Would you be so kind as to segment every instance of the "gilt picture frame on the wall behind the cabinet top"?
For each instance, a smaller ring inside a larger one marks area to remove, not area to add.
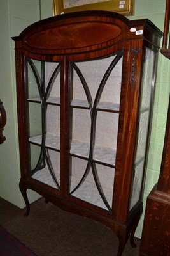
[[[134,0],[53,0],[53,15],[83,10],[105,10],[134,15]]]

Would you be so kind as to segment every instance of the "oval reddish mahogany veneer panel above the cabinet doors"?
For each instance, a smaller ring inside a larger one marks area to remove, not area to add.
[[[106,35],[103,34],[106,31]],[[94,44],[104,44],[113,38],[117,38],[121,28],[114,24],[102,24],[99,22],[81,22],[80,24],[68,24],[57,28],[48,29],[46,34],[39,32],[26,38],[25,43],[38,49],[71,49],[90,47]],[[36,38],[39,38],[39,41]],[[86,38],[89,38],[88,42]],[[76,45],[75,45],[76,42]]]

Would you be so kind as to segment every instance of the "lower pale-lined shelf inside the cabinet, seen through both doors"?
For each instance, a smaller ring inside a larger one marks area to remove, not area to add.
[[[35,145],[42,144],[42,135],[29,138],[29,142]],[[52,150],[60,151],[60,138],[53,134],[46,134],[45,147]],[[83,141],[72,140],[71,142],[71,156],[80,157],[82,159],[89,159],[90,144]],[[94,147],[93,161],[95,163],[104,164],[115,168],[116,152],[112,148]]]

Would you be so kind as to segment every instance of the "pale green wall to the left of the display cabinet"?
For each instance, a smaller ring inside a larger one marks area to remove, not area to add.
[[[18,36],[30,24],[52,16],[52,0],[1,0],[0,1],[0,99],[6,109],[4,127],[6,141],[0,145],[0,196],[24,207],[18,188],[20,159],[18,152],[17,100],[15,83],[15,51],[11,36]],[[41,12],[40,12],[41,10]],[[29,191],[30,202],[39,195]]]

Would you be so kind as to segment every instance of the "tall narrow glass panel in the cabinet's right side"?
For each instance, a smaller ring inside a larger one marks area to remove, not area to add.
[[[141,185],[145,163],[146,141],[148,137],[148,124],[150,119],[150,104],[153,86],[153,71],[155,63],[155,52],[146,48],[145,61],[143,65],[143,77],[141,83],[141,99],[139,108],[139,128],[134,161],[134,177],[132,180],[132,192],[130,210],[138,202],[141,195]]]

